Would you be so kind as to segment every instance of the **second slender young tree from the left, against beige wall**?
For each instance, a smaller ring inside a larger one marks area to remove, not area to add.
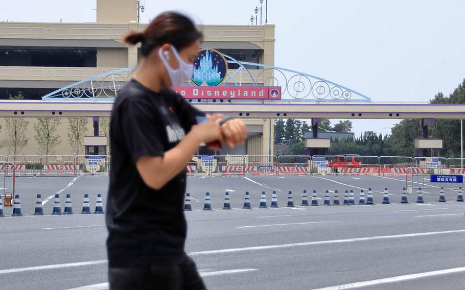
[[[36,134],[34,138],[39,144],[40,155],[51,155],[54,147],[61,143],[60,136],[56,133],[60,125],[58,118],[38,118],[38,123],[34,124]]]

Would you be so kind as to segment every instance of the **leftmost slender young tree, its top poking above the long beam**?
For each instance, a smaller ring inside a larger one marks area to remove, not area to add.
[[[24,100],[22,94],[9,95],[10,100]],[[9,152],[17,155],[27,145],[29,138],[26,136],[29,121],[26,118],[5,118],[6,140]]]

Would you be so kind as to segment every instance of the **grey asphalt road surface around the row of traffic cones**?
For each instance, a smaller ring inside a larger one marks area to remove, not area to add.
[[[465,204],[454,201],[457,192],[446,190],[446,203],[430,190],[425,204],[412,202],[415,195],[399,204],[402,178],[357,178],[189,178],[194,210],[186,213],[186,251],[208,289],[338,289],[333,286],[353,288],[362,281],[368,281],[363,289],[463,289]],[[18,178],[23,212],[33,212],[37,193],[47,198],[73,180]],[[80,177],[61,191],[62,206],[66,193],[73,195],[75,212],[84,192],[92,206],[97,193],[105,201],[107,185],[106,177]],[[373,206],[284,207],[288,190],[298,205],[303,189],[316,189],[319,198],[324,189],[337,189],[341,201],[345,189],[354,189],[358,201],[360,188],[368,187],[375,190]],[[380,204],[384,187],[392,194],[390,205]],[[220,209],[226,189],[234,210]],[[246,190],[253,210],[240,209]],[[276,190],[282,207],[258,209],[262,190],[268,205]],[[205,191],[212,194],[213,211],[201,210]],[[44,211],[52,207],[53,199]],[[0,288],[105,289],[105,238],[104,216],[98,214],[1,218]]]

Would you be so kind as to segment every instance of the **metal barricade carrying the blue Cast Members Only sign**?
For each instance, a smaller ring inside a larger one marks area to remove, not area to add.
[[[422,188],[422,190],[426,192],[428,192],[428,190],[438,191],[441,187],[452,190],[458,190],[459,186],[463,188],[463,181],[460,183],[452,182],[452,176],[456,176],[454,168],[408,167],[406,174],[407,192],[409,194],[415,193],[418,188]]]

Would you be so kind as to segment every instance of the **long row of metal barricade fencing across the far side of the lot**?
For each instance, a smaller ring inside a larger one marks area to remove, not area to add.
[[[0,155],[4,176],[106,175],[106,155]],[[11,162],[14,165],[12,165]],[[450,168],[465,174],[465,158],[360,155],[198,155],[185,167],[189,176],[386,175],[406,176],[408,168]]]

